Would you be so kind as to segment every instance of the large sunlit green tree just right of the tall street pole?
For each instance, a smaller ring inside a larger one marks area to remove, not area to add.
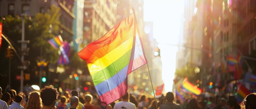
[[[32,30],[34,35],[31,35],[31,46],[35,52],[41,52],[42,57],[49,63],[56,63],[59,57],[58,50],[55,50],[48,40],[58,35],[59,32],[59,13],[60,9],[54,5],[51,6],[50,13],[37,13],[33,18]],[[40,48],[43,48],[40,51]],[[32,51],[33,52],[33,51]],[[38,55],[39,56],[39,55]]]

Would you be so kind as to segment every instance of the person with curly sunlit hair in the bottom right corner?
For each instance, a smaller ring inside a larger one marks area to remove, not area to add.
[[[241,109],[256,109],[256,93],[249,94],[240,103]]]

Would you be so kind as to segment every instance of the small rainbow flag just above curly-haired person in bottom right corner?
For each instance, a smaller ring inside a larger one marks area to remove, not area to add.
[[[249,94],[251,94],[251,92],[243,84],[241,84],[240,88],[238,89],[236,99],[238,102],[242,102],[242,100]]]

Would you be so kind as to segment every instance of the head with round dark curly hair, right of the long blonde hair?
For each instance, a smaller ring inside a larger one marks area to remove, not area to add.
[[[43,87],[40,92],[40,98],[43,102],[42,109],[52,109],[55,106],[56,100],[58,100],[58,95],[57,89],[53,86]]]

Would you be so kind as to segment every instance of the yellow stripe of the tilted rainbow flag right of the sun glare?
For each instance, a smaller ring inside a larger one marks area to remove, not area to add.
[[[192,92],[195,95],[199,95],[202,92],[202,89],[198,88],[197,86],[193,85],[188,81],[188,78],[185,78],[183,81],[182,87],[189,92]]]

